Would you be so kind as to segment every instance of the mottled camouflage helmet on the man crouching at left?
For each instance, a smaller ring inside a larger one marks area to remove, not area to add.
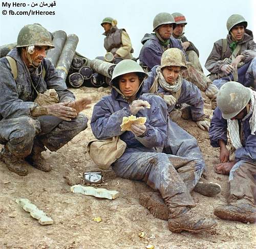
[[[54,48],[52,38],[47,29],[39,24],[24,26],[18,33],[17,47],[48,46]]]

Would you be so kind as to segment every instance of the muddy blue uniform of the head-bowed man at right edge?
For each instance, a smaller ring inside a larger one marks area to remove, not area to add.
[[[228,203],[247,200],[255,204],[256,135],[251,134],[250,118],[241,121],[239,125],[243,147],[234,152],[237,163],[229,173]],[[219,139],[227,143],[227,120],[223,119],[219,107],[214,111],[209,134],[211,146],[219,147]]]

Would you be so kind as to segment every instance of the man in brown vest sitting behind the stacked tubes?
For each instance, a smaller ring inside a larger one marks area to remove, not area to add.
[[[107,53],[111,53],[113,58],[121,57],[123,59],[131,59],[133,48],[132,42],[125,29],[117,28],[117,20],[112,17],[105,17],[101,26],[104,29],[104,48]],[[103,59],[104,57],[99,59]]]

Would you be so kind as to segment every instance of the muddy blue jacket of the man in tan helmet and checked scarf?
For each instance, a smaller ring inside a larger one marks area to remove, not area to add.
[[[157,66],[154,66],[152,71],[147,73],[148,77],[144,80],[143,93],[149,93],[150,89],[156,79]],[[191,119],[194,121],[204,120],[204,101],[200,90],[197,86],[187,80],[182,80],[181,88],[178,90],[179,93],[170,93],[164,90],[160,84],[158,84],[158,90],[156,93],[163,95],[173,95],[176,98],[176,104],[186,103],[190,105]],[[170,114],[175,106],[168,105],[168,113]]]

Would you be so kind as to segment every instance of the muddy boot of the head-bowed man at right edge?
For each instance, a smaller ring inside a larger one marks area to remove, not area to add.
[[[214,210],[214,214],[224,220],[234,220],[240,222],[256,222],[256,208],[248,202],[232,202],[230,205],[219,205]]]

